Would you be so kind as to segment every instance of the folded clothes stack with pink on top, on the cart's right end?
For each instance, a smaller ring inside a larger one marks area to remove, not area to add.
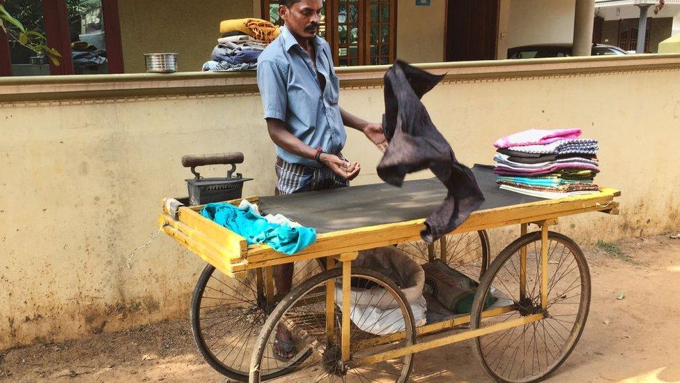
[[[580,129],[530,129],[494,142],[494,172],[500,188],[541,198],[594,193],[597,140]]]

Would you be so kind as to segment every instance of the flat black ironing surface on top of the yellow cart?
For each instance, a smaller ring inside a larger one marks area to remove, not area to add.
[[[472,167],[486,201],[480,210],[541,201],[541,198],[498,188],[493,167]],[[438,179],[350,186],[291,195],[260,197],[263,214],[281,213],[319,233],[426,218],[442,204],[447,190]]]

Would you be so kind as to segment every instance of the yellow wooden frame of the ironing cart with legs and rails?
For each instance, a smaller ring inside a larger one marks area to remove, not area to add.
[[[602,211],[610,214],[617,214],[618,202],[615,197],[619,196],[618,190],[605,188],[598,193],[588,195],[578,195],[564,197],[559,200],[541,200],[513,206],[503,206],[495,209],[475,211],[468,220],[460,227],[456,228],[451,234],[486,230],[494,227],[507,225],[520,225],[520,233],[527,233],[527,225],[537,224],[541,227],[541,307],[546,308],[547,286],[548,286],[548,227],[557,223],[557,218],[571,216],[590,211]],[[247,198],[249,202],[258,202],[258,197]],[[356,367],[369,363],[386,361],[394,357],[412,354],[434,347],[440,347],[450,343],[468,340],[477,336],[483,336],[495,331],[510,329],[514,326],[536,322],[543,319],[545,313],[536,313],[520,317],[516,320],[493,324],[477,330],[464,331],[453,335],[428,340],[423,343],[415,343],[401,350],[390,350],[378,354],[373,354],[362,359],[350,360],[351,350],[360,350],[364,347],[371,347],[383,343],[399,340],[404,333],[393,333],[388,336],[372,338],[366,342],[350,345],[350,310],[344,308],[350,306],[350,283],[349,279],[352,271],[352,261],[356,259],[358,251],[389,246],[396,243],[408,241],[418,241],[420,231],[424,225],[424,219],[409,220],[399,223],[389,223],[385,225],[375,225],[369,227],[357,227],[351,230],[339,230],[318,234],[316,243],[302,250],[295,255],[284,255],[266,245],[248,246],[247,241],[238,234],[227,230],[208,218],[200,215],[199,211],[203,206],[180,206],[172,209],[170,202],[173,200],[165,199],[163,212],[160,214],[158,223],[160,228],[176,241],[199,255],[203,260],[215,266],[228,276],[235,273],[257,269],[258,286],[263,287],[267,294],[268,301],[273,302],[272,289],[272,266],[285,264],[300,260],[310,260],[313,258],[326,257],[327,268],[334,266],[335,262],[342,264],[342,333],[341,333],[341,354],[342,360],[347,366]],[[241,200],[231,201],[233,204],[240,203]],[[442,239],[445,241],[445,239]],[[443,244],[443,243],[442,243]],[[441,246],[444,249],[446,246]],[[433,251],[429,252],[431,258],[435,257]],[[440,255],[445,257],[442,250]],[[525,262],[526,250],[520,254],[520,289],[525,284]],[[329,282],[328,291],[334,289],[334,283]],[[523,291],[520,290],[520,294]],[[334,294],[327,294],[326,298],[327,317],[330,319],[334,310]],[[493,308],[485,310],[482,317],[490,317],[507,313],[511,309],[507,307]],[[453,329],[461,324],[469,323],[470,315],[455,317],[452,320],[445,320],[435,324],[429,324],[417,328],[417,334],[423,336],[442,330]],[[327,322],[327,331],[333,331],[332,320]],[[332,336],[328,333],[327,336]]]

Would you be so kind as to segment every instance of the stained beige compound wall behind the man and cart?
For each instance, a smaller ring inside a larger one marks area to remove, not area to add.
[[[455,80],[424,104],[468,165],[490,163],[501,135],[582,128],[601,142],[597,182],[623,190],[621,216],[565,218],[556,230],[580,243],[670,232],[680,228],[675,62]],[[641,108],[640,100],[656,101]],[[383,89],[343,89],[341,105],[380,121]],[[245,195],[271,194],[274,154],[261,115],[256,93],[0,103],[0,350],[186,317],[198,257],[161,235],[130,268],[126,261],[157,232],[160,199],[185,195],[184,154],[242,151],[239,171],[255,179]],[[350,131],[344,153],[363,165],[355,184],[378,181],[380,153],[364,137]],[[512,239],[507,230],[490,236],[494,251]]]

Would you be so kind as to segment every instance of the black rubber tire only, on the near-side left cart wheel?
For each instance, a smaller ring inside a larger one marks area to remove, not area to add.
[[[341,268],[334,268],[328,271],[324,271],[323,273],[319,273],[316,276],[312,276],[311,278],[305,280],[302,284],[293,287],[291,292],[288,293],[286,297],[284,297],[284,299],[282,299],[279,302],[279,304],[267,318],[265,324],[262,326],[262,330],[260,331],[260,335],[258,336],[258,339],[256,341],[253,357],[250,363],[249,382],[263,382],[268,379],[286,375],[286,372],[284,371],[281,371],[276,374],[265,375],[264,377],[259,377],[258,375],[259,370],[257,366],[260,366],[261,364],[261,360],[263,358],[263,354],[268,343],[268,340],[272,334],[272,331],[275,331],[277,323],[279,322],[281,316],[286,313],[286,310],[288,310],[288,308],[291,308],[291,306],[293,306],[300,298],[302,298],[302,296],[304,296],[305,293],[307,293],[309,290],[319,285],[320,283],[323,283],[327,280],[336,280],[337,278],[341,278],[341,276],[342,276]],[[404,319],[408,321],[408,326],[411,329],[412,336],[410,339],[410,343],[415,344],[416,343],[415,320],[413,318],[411,307],[408,301],[406,301],[406,298],[403,292],[401,292],[401,289],[399,289],[399,287],[394,282],[392,282],[392,280],[390,280],[383,274],[369,269],[353,268],[352,276],[353,277],[368,276],[380,280],[381,282],[385,283],[385,285],[387,285],[391,290],[393,290],[397,294],[397,296],[399,296],[401,302],[405,304],[406,312],[408,315],[408,318]],[[399,380],[399,382],[408,381],[408,376],[410,375],[413,368],[414,359],[413,356],[414,354],[410,354],[407,356],[404,363],[405,370],[402,370],[403,378]]]

